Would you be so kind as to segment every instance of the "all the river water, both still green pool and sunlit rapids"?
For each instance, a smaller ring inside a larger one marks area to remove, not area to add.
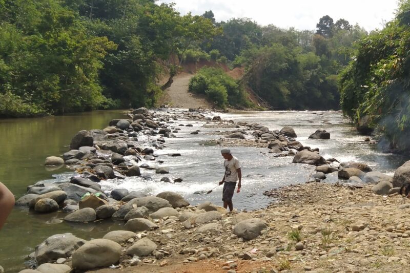
[[[73,175],[70,170],[64,167],[58,170],[46,169],[42,165],[44,159],[68,151],[67,145],[77,131],[102,129],[109,120],[121,117],[125,117],[121,111],[95,111],[60,117],[0,120],[0,181],[10,188],[16,198],[24,195],[27,185],[34,182],[67,181]],[[261,123],[271,130],[280,130],[283,126],[289,125],[295,129],[298,141],[303,145],[319,148],[325,158],[364,162],[373,170],[390,175],[406,160],[401,156],[376,151],[372,144],[363,141],[364,137],[358,135],[339,112],[238,112],[221,114],[221,117],[227,120]],[[160,182],[164,175],[143,170],[146,178],[103,181],[103,190],[109,192],[113,188],[121,187],[148,194],[173,191],[184,196],[191,204],[210,200],[221,205],[221,186],[216,187],[209,195],[197,195],[194,192],[208,191],[215,187],[224,171],[223,159],[219,152],[221,148],[204,144],[203,141],[218,139],[220,136],[212,134],[216,130],[232,129],[206,129],[202,127],[202,121],[176,122],[175,126],[179,123],[192,123],[193,127],[180,127],[181,131],[177,137],[167,138],[166,148],[155,151],[155,155],[165,161],[161,165],[170,168],[169,177],[181,177],[183,182]],[[317,129],[330,132],[331,139],[308,139]],[[200,130],[198,135],[190,134],[196,130]],[[142,141],[148,141],[148,138],[138,136]],[[240,160],[242,170],[242,190],[240,194],[235,193],[233,198],[234,207],[238,209],[249,210],[266,206],[272,199],[263,196],[264,191],[291,183],[305,182],[314,169],[310,165],[292,164],[292,156],[275,158],[273,154],[267,153],[267,148],[231,147],[231,151]],[[181,156],[169,156],[175,152]],[[337,176],[327,175],[325,181],[335,182]],[[122,226],[122,223],[112,221],[74,225],[61,221],[64,216],[62,212],[39,215],[25,208],[15,208],[0,232],[0,265],[6,272],[23,269],[25,257],[34,250],[34,246],[51,235],[71,232],[89,240],[101,238],[110,230],[121,229]]]

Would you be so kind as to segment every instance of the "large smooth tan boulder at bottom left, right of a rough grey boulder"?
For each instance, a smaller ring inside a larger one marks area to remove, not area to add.
[[[73,267],[89,270],[111,266],[119,261],[121,246],[111,240],[94,239],[78,248],[72,258]]]

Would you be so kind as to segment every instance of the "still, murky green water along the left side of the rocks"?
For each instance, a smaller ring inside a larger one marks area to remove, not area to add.
[[[52,178],[53,174],[66,172],[64,167],[47,170],[43,165],[47,156],[68,151],[73,134],[79,130],[102,129],[109,120],[125,117],[124,111],[94,111],[68,116],[0,119],[0,181],[16,196],[26,193],[27,185]],[[1,208],[0,208],[1,209]],[[55,215],[55,218],[58,218]],[[75,227],[74,227],[75,228]],[[103,233],[106,223],[73,229],[73,234],[84,238]],[[24,269],[24,257],[44,238],[67,232],[66,224],[53,224],[50,216],[30,217],[27,209],[14,208],[6,225],[0,231],[0,265],[6,272]],[[52,235],[51,234],[51,235]]]

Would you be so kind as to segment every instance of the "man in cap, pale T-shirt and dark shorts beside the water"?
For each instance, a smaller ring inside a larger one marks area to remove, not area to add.
[[[222,181],[219,185],[223,185],[222,190],[222,201],[223,207],[227,208],[232,212],[232,196],[235,192],[236,181],[239,179],[238,190],[236,193],[240,192],[242,172],[240,170],[239,160],[231,154],[231,150],[224,148],[221,150],[221,154],[225,161],[223,161],[223,166],[225,167],[225,174],[223,175]]]

